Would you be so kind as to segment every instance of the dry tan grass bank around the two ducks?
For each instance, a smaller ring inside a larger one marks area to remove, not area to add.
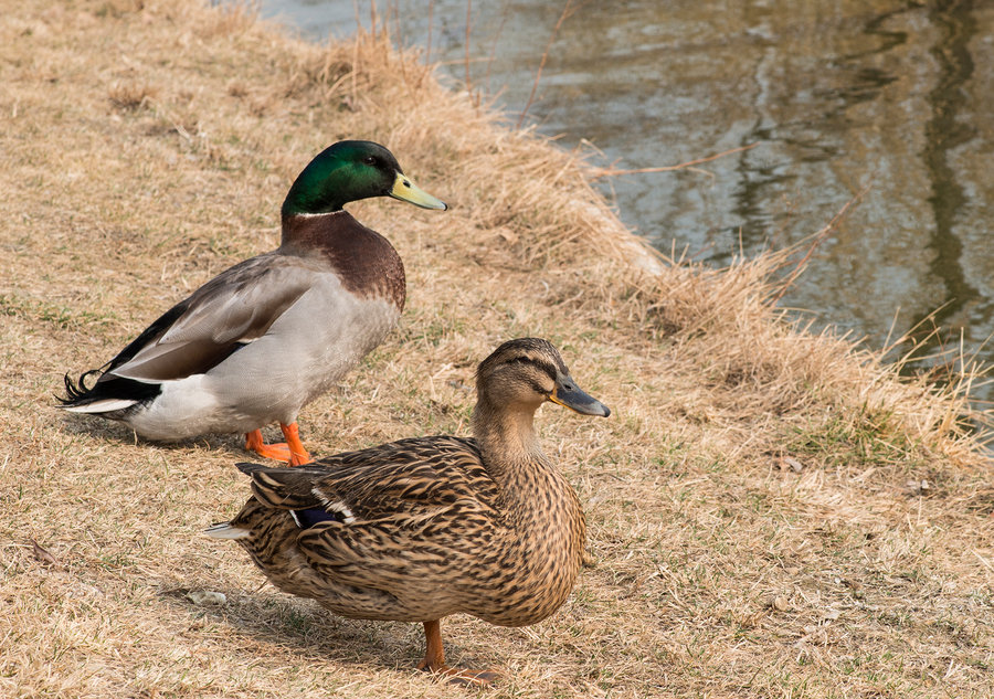
[[[332,617],[201,534],[246,497],[239,438],[136,444],[53,406],[62,372],[273,247],[303,165],[366,137],[453,210],[352,206],[401,251],[409,307],[304,412],[313,451],[465,432],[475,363],[520,335],[615,411],[540,414],[596,559],[567,605],[444,624],[454,660],[506,672],[490,696],[990,696],[994,487],[969,406],[786,324],[787,253],[639,252],[581,157],[383,36],[318,47],[194,0],[0,8],[0,695],[467,693],[412,671],[416,626]]]

